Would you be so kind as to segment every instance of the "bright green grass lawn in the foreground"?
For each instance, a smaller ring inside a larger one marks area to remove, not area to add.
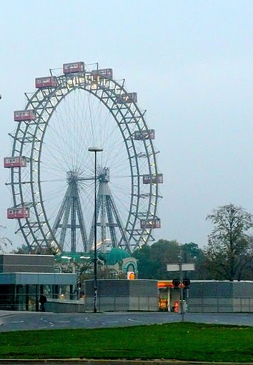
[[[184,322],[0,333],[0,359],[59,358],[253,362],[253,327]]]

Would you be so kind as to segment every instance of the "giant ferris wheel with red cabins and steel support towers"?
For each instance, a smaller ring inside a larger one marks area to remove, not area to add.
[[[132,252],[154,240],[159,151],[137,93],[124,83],[111,68],[64,63],[36,78],[24,110],[14,111],[12,153],[4,158],[13,200],[7,217],[17,220],[29,250],[91,252],[94,222],[104,252]],[[91,145],[103,148],[96,173]]]

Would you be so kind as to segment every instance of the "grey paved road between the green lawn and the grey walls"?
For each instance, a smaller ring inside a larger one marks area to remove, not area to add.
[[[36,329],[127,327],[181,322],[167,312],[41,313],[0,311],[0,332]],[[184,314],[184,322],[236,324],[253,327],[253,314]]]

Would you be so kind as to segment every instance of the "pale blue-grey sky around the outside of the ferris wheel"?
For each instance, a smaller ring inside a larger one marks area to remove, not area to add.
[[[73,61],[113,68],[156,130],[164,198],[155,239],[203,247],[213,208],[253,213],[252,10],[252,0],[1,1],[2,158],[35,77]],[[0,225],[21,245],[6,219],[7,169],[0,179]]]

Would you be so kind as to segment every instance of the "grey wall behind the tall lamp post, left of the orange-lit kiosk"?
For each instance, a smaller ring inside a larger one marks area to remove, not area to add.
[[[158,311],[157,280],[98,280],[99,311]],[[94,309],[94,281],[86,280],[86,310]]]

